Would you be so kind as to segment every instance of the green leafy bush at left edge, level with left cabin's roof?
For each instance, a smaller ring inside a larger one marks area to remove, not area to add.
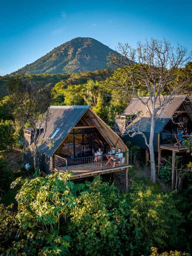
[[[13,127],[13,122],[10,120],[1,120],[0,122],[0,150],[11,149],[16,144],[17,134]]]

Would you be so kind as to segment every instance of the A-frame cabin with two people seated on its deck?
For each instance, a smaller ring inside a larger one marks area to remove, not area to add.
[[[43,131],[44,127],[41,129]],[[31,128],[24,130],[28,143],[32,139],[29,132]],[[44,138],[47,140],[38,147],[38,152],[40,168],[47,174],[72,171],[72,179],[77,179],[128,171],[131,166],[125,143],[89,106],[51,106]],[[101,161],[94,161],[99,148]],[[117,163],[113,168],[109,152],[114,155],[118,148],[123,152],[124,163]],[[25,154],[24,160],[33,164],[31,153]]]

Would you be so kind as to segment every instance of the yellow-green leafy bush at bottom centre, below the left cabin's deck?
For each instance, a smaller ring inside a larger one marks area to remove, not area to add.
[[[118,207],[118,190],[106,183],[94,182],[89,192],[82,192],[77,206],[70,212],[69,232],[74,254],[116,255],[120,237],[115,218],[110,212]]]

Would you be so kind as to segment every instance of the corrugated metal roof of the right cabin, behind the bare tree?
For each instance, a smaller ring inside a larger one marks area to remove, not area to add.
[[[161,96],[158,98],[156,102],[156,107],[158,105],[162,105],[163,102],[169,99],[170,96]],[[164,108],[164,111],[158,111],[155,121],[155,133],[160,133],[167,122],[170,120],[171,116],[178,110],[181,104],[186,99],[187,95],[176,95],[173,99],[170,99]],[[143,97],[142,100],[148,105],[149,109],[152,110],[152,105],[149,97]],[[133,115],[140,112],[140,117],[136,117],[133,122],[128,126],[135,130],[139,129],[142,132],[150,132],[151,128],[151,120],[149,116],[149,112],[146,110],[146,107],[141,103],[141,101],[137,98],[133,98],[125,109],[124,114]],[[192,113],[192,112],[191,112]]]

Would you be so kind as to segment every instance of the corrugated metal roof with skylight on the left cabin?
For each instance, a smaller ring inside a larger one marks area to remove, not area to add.
[[[51,148],[45,141],[38,147],[38,151],[48,156],[52,155],[88,108],[89,106],[51,106],[45,138],[49,138],[56,129],[60,130],[52,140],[53,146]]]

